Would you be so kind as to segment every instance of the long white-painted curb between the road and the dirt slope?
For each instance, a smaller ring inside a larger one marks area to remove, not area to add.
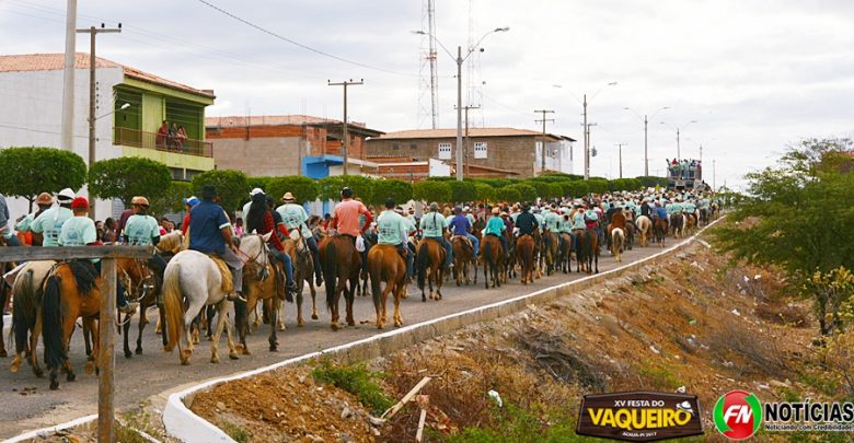
[[[233,440],[224,432],[222,432],[222,430],[215,427],[212,423],[208,422],[201,417],[196,416],[192,410],[189,410],[187,405],[193,404],[193,398],[195,397],[196,393],[209,389],[221,383],[246,378],[264,372],[274,371],[282,366],[311,360],[320,355],[333,355],[347,361],[373,359],[405,348],[407,346],[422,342],[429,338],[451,333],[468,325],[493,320],[509,314],[520,312],[527,308],[529,304],[547,303],[557,298],[568,295],[570,290],[578,291],[588,289],[593,285],[593,283],[620,276],[627,271],[636,270],[655,259],[658,259],[667,254],[672,253],[673,250],[686,246],[696,240],[697,235],[702,234],[706,229],[713,226],[724,218],[725,217],[719,217],[717,220],[697,231],[691,237],[685,238],[673,246],[665,248],[649,257],[621,266],[616,269],[612,269],[595,276],[588,276],[579,280],[544,288],[529,294],[491,303],[469,311],[463,311],[461,313],[434,318],[431,320],[418,323],[415,325],[404,326],[395,330],[378,334],[357,341],[324,349],[322,351],[311,352],[281,361],[279,363],[258,368],[256,370],[215,378],[178,393],[174,393],[169,396],[169,401],[166,403],[166,407],[163,410],[163,424],[165,424],[166,432],[170,434],[170,436],[180,439],[184,442],[233,442]]]

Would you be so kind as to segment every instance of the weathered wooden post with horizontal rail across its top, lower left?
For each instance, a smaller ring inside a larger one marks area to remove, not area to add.
[[[69,260],[74,258],[101,258],[101,312],[99,316],[100,353],[97,366],[97,441],[115,441],[115,336],[113,323],[116,315],[116,258],[151,258],[151,246],[66,246],[66,247],[2,247],[0,263]]]

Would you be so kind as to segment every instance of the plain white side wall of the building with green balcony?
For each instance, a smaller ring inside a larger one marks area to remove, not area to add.
[[[122,68],[100,68],[95,115],[113,110],[113,88],[122,83]],[[74,72],[74,142],[73,152],[89,161],[89,70]],[[62,123],[62,71],[21,71],[0,73],[0,149],[9,147],[60,147]],[[122,155],[122,147],[113,145],[113,119],[96,121],[95,160]],[[86,195],[85,188],[74,189]],[[9,199],[14,220],[27,212],[25,199]],[[111,202],[95,202],[95,218],[111,214]]]

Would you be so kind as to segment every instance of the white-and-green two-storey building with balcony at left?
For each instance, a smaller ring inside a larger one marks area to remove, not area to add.
[[[74,141],[70,147],[89,162],[89,55],[74,62]],[[62,54],[0,56],[0,149],[60,147],[62,120]],[[214,104],[210,90],[196,90],[119,63],[96,63],[95,161],[118,156],[145,156],[165,163],[174,179],[189,179],[214,168],[210,144],[205,142],[205,107]],[[129,104],[122,109],[124,104]],[[187,131],[181,148],[157,138],[163,120],[176,121]],[[85,195],[85,189],[74,189]],[[24,199],[9,198],[12,219],[26,213]],[[96,220],[120,211],[120,205],[99,200]]]

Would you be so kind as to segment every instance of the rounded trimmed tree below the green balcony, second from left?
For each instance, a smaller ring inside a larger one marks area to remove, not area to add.
[[[117,198],[125,206],[135,196],[158,200],[171,185],[172,174],[165,164],[141,156],[101,160],[89,170],[89,191],[97,198]]]

